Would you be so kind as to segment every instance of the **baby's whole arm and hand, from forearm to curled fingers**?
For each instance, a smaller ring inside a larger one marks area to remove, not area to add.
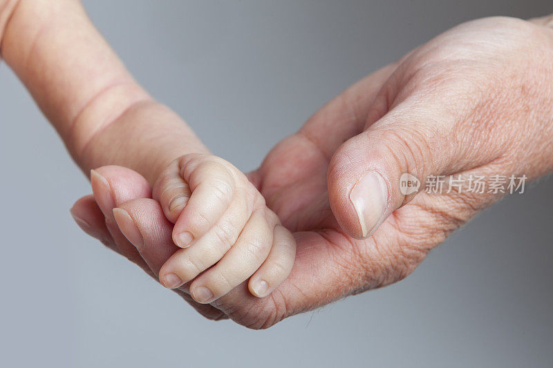
[[[2,56],[24,81],[75,162],[133,168],[154,184],[182,249],[159,271],[168,288],[213,302],[247,281],[268,296],[288,276],[296,244],[247,177],[209,154],[190,128],[132,79],[75,0],[3,1]],[[93,187],[109,186],[91,171]],[[136,240],[129,213],[107,210],[106,225]],[[140,257],[140,243],[118,245]]]

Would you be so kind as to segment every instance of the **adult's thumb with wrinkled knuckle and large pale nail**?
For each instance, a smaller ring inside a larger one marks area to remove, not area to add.
[[[454,126],[453,117],[431,106],[397,106],[344,142],[328,168],[328,197],[341,228],[366,238],[412,200],[429,175],[449,175],[474,164]]]

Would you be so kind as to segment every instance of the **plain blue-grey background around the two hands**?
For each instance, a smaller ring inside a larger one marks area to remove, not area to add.
[[[137,79],[250,170],[325,101],[447,28],[543,1],[99,1]],[[506,198],[413,275],[266,331],[209,322],[91,238],[90,191],[0,66],[0,365],[552,367],[552,180]],[[4,364],[2,364],[4,363]]]

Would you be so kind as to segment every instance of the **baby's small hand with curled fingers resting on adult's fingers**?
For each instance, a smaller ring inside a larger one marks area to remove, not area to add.
[[[175,224],[176,251],[160,269],[168,288],[189,285],[191,296],[209,303],[250,278],[254,296],[268,296],[292,270],[296,242],[265,206],[261,193],[224,159],[179,157],[153,188]]]

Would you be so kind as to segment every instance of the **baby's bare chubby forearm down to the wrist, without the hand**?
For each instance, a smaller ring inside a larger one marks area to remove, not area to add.
[[[79,1],[0,0],[0,26],[3,59],[84,171],[120,164],[153,180],[152,168],[205,150],[182,120],[138,86]]]

